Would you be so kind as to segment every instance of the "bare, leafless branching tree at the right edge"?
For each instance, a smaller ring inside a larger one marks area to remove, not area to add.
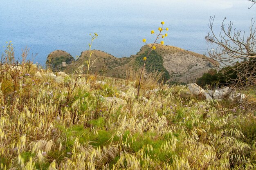
[[[255,0],[249,0],[255,3]],[[233,28],[233,22],[223,20],[220,33],[213,30],[214,17],[210,17],[210,32],[205,37],[214,50],[209,56],[220,63],[222,76],[234,86],[256,86],[256,28],[251,21],[249,34]],[[248,35],[248,36],[246,36]],[[223,69],[223,67],[226,67]],[[228,69],[227,69],[228,68]],[[232,76],[231,76],[232,75]],[[235,75],[235,76],[234,76]],[[230,78],[232,77],[232,78]]]

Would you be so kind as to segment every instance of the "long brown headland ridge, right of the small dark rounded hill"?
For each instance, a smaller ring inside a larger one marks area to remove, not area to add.
[[[92,50],[90,61],[90,73],[99,73],[105,69],[105,75],[108,77],[125,78],[126,71],[129,68],[139,68],[144,64],[143,57],[148,53],[152,44],[146,44],[141,47],[135,55],[130,57],[117,58],[100,50]],[[155,44],[156,50],[153,50],[147,59],[146,72],[160,71],[164,73],[165,79],[175,82],[195,82],[203,73],[218,65],[210,58],[181,49],[175,46]],[[79,58],[67,65],[65,71],[73,73],[74,68],[83,63],[87,67],[86,61],[89,60],[89,50],[82,51]]]

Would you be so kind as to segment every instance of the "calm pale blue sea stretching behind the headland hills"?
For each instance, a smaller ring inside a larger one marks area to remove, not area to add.
[[[73,57],[89,49],[90,33],[97,32],[92,49],[116,57],[136,54],[144,43],[153,42],[160,22],[168,27],[166,45],[197,53],[207,53],[204,39],[226,17],[234,27],[249,30],[256,15],[256,5],[247,0],[11,0],[0,3],[0,52],[12,41],[16,58],[25,46],[28,59],[44,64],[47,55],[57,49]],[[255,25],[254,25],[255,26]],[[36,57],[31,56],[36,54]]]

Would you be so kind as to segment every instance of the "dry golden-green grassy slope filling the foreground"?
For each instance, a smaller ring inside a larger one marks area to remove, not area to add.
[[[105,78],[99,85],[101,77],[94,77],[85,84],[83,76],[75,83],[70,75],[57,83],[25,73],[31,75],[18,79],[23,85],[12,104],[12,95],[0,93],[0,169],[256,168],[251,106],[207,102],[186,86],[167,85],[150,93],[141,88],[136,100],[129,80]],[[74,84],[70,94],[67,85]]]

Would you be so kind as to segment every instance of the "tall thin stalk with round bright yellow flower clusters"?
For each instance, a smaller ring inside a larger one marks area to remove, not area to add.
[[[168,28],[163,29],[164,21],[162,21],[161,24],[162,24],[162,26],[158,28],[158,31],[159,31],[158,34],[155,33],[154,30],[151,31],[151,34],[155,34],[157,37],[156,37],[156,39],[155,39],[155,42],[154,42],[151,46],[148,46],[148,47],[150,47],[150,49],[149,49],[149,51],[148,51],[148,54],[147,54],[145,57],[143,57],[144,64],[143,64],[143,67],[141,68],[141,73],[140,73],[140,77],[139,77],[139,85],[138,85],[137,98],[139,97],[139,89],[140,89],[140,84],[141,84],[141,77],[142,77],[142,73],[143,73],[143,71],[144,71],[144,68],[145,68],[145,66],[146,66],[147,58],[148,58],[149,54],[151,53],[151,51],[153,51],[153,50],[156,49],[156,47],[155,47],[154,45],[157,43],[157,40],[158,40],[159,38],[165,38],[165,37],[167,37],[167,35],[168,35],[167,33],[162,34],[162,31],[163,31],[163,30],[168,31]],[[142,42],[146,43],[146,39],[143,39]],[[147,43],[146,43],[146,44],[147,44]],[[160,41],[160,44],[163,45],[163,44],[164,44],[164,41]],[[148,44],[147,44],[147,45],[148,45]]]

